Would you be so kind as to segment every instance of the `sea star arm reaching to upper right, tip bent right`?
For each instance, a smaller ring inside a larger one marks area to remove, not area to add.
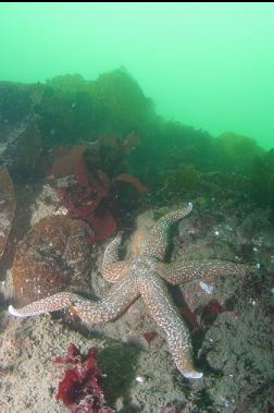
[[[169,244],[169,229],[179,219],[186,217],[192,210],[192,204],[188,203],[184,208],[164,215],[152,228],[146,253],[155,258],[163,259]]]

